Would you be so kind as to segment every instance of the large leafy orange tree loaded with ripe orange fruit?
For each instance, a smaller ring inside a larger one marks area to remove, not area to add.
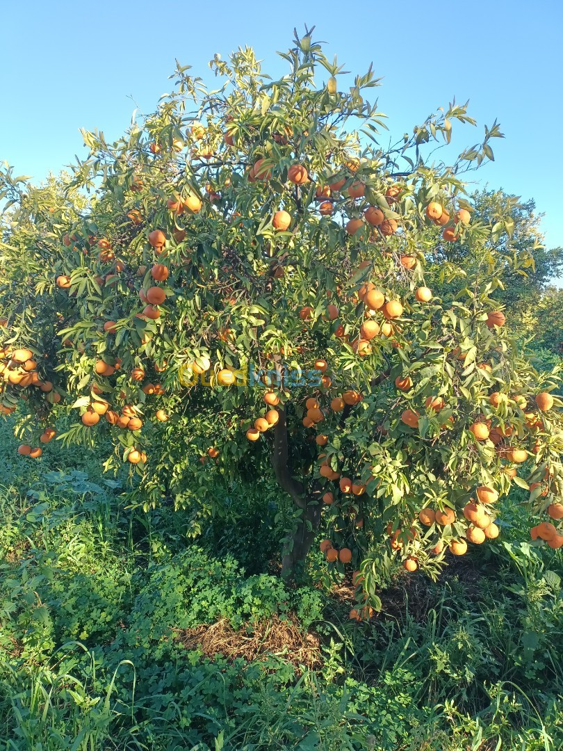
[[[311,32],[281,58],[272,80],[250,49],[215,56],[210,92],[178,66],[124,137],[84,133],[59,190],[2,171],[2,410],[23,400],[20,454],[71,415],[57,439],[109,437],[131,502],[173,499],[197,528],[225,513],[218,489],[272,476],[291,501],[284,574],[322,525],[328,575],[355,569],[365,608],[393,557],[434,575],[495,538],[513,483],[537,544],[560,547],[558,370],[519,354],[493,297],[519,267],[510,216],[464,198],[498,125],[450,166],[432,149],[474,125],[455,103],[386,148],[371,68],[342,90]],[[453,302],[424,284],[436,263],[466,277]]]

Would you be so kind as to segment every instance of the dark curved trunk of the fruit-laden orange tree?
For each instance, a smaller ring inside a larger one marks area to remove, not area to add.
[[[288,425],[285,410],[278,409],[279,420],[274,427],[272,466],[279,486],[291,496],[294,508],[302,512],[300,522],[292,535],[292,547],[281,559],[281,576],[291,578],[303,565],[321,522],[321,488],[313,487],[307,493],[305,485],[294,478],[288,452]]]

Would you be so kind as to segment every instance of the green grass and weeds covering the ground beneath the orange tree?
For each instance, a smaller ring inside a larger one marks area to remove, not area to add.
[[[276,509],[248,489],[230,535],[190,541],[181,512],[123,508],[95,455],[14,446],[2,424],[0,748],[563,747],[561,551],[513,500],[495,544],[436,584],[397,571],[357,626],[320,556],[299,589],[269,571]]]

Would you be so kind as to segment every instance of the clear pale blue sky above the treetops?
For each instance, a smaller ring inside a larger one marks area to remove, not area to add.
[[[373,62],[393,133],[410,132],[454,95],[471,100],[479,123],[458,131],[460,148],[498,118],[506,138],[493,142],[495,164],[477,176],[534,198],[547,244],[563,245],[561,0],[5,0],[0,17],[0,160],[18,173],[39,180],[86,155],[81,127],[116,137],[135,106],[152,112],[175,58],[209,80],[213,53],[226,58],[250,44],[277,73],[275,50],[308,23],[347,70]]]

